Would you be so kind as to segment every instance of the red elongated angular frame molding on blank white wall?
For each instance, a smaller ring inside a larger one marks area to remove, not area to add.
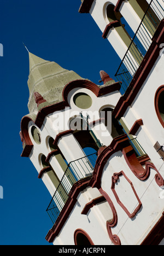
[[[118,182],[118,179],[120,176],[124,176],[125,179],[127,180],[128,183],[130,183],[131,188],[133,190],[134,195],[137,198],[138,201],[138,206],[134,209],[134,211],[132,213],[130,213],[127,208],[125,207],[125,205],[120,201],[118,194],[115,191],[115,184]],[[114,173],[113,177],[112,177],[112,187],[111,187],[113,194],[116,198],[116,201],[118,202],[118,204],[122,207],[122,209],[126,212],[126,214],[128,215],[129,218],[133,218],[134,216],[136,216],[136,213],[139,211],[140,207],[142,206],[142,202],[139,200],[139,197],[137,195],[136,190],[134,189],[133,183],[130,181],[130,179],[127,178],[127,176],[125,175],[125,173],[123,171],[119,172],[119,173]]]

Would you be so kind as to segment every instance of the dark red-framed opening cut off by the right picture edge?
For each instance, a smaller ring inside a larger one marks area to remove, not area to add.
[[[160,86],[155,95],[155,110],[161,125],[164,127],[164,85]]]

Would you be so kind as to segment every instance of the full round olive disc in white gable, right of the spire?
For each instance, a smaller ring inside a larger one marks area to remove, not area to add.
[[[79,92],[73,97],[74,104],[81,109],[87,109],[92,106],[92,99],[89,95],[84,92]]]

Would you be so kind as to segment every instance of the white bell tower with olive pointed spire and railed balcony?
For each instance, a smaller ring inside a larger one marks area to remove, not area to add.
[[[55,222],[72,186],[91,177],[99,148],[120,134],[111,123],[120,83],[101,71],[98,86],[55,62],[31,53],[29,60],[30,113],[21,120],[21,156],[30,158],[48,188],[47,211]]]

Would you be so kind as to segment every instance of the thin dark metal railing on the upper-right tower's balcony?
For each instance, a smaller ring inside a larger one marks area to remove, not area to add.
[[[151,0],[149,8],[145,12],[138,30],[115,74],[116,79],[122,82],[122,94],[124,94],[128,85],[130,85],[134,74],[147,53],[152,42],[151,38],[156,28],[159,26],[160,21],[163,19],[163,16],[164,10],[159,1]]]

